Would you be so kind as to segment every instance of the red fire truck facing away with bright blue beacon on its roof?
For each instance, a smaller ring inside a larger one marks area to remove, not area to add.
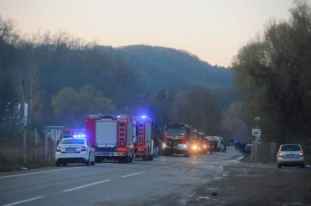
[[[142,157],[143,161],[153,160],[153,131],[157,128],[157,124],[147,116],[133,116],[133,123],[138,129],[138,135],[133,138],[134,156]]]

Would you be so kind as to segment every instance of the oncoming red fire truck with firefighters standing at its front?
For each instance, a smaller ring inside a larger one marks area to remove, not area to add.
[[[163,153],[166,152],[166,141],[168,139],[173,140],[175,137],[178,138],[177,154],[184,154],[185,157],[191,155],[191,126],[182,123],[169,123],[164,126],[163,129]]]

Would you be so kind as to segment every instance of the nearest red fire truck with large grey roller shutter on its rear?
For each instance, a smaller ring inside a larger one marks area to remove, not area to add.
[[[119,163],[132,162],[134,128],[133,118],[128,114],[86,115],[85,132],[95,150],[96,162],[104,159],[118,160]]]

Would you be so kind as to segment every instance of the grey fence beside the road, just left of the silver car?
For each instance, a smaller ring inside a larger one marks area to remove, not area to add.
[[[252,142],[251,160],[274,160],[275,142]]]

